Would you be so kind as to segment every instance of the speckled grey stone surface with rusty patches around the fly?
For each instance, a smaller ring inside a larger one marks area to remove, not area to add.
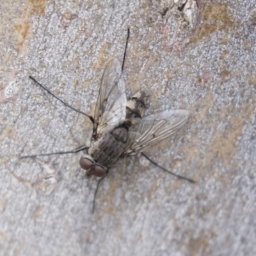
[[[191,1],[191,0],[189,0]],[[0,1],[1,255],[256,255],[256,2],[198,1],[186,26],[172,1]],[[180,12],[180,13],[179,13]],[[187,24],[188,25],[188,24]],[[188,123],[102,182],[83,155],[20,159],[90,143],[108,61],[147,114]]]

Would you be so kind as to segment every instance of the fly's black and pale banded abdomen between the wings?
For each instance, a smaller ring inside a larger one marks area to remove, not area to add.
[[[145,92],[136,92],[131,99],[127,100],[126,116],[124,124],[127,127],[136,125],[140,122],[145,113]]]

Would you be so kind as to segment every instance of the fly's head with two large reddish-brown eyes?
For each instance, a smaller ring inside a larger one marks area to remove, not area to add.
[[[83,168],[83,173],[86,178],[92,177],[92,175],[96,177],[104,177],[108,174],[108,170],[93,160],[90,156],[81,157],[80,166]]]

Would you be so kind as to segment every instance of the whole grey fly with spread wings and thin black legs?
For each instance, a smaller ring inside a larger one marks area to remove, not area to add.
[[[125,54],[128,38],[129,29]],[[166,110],[154,115],[144,116],[146,108],[145,98],[147,97],[145,92],[138,91],[127,100],[123,76],[124,60],[121,65],[117,58],[113,58],[106,66],[100,83],[94,117],[73,108],[56,97],[42,84],[38,83],[35,78],[29,76],[30,79],[53,97],[60,100],[65,106],[87,116],[93,124],[93,135],[89,147],[84,145],[76,150],[23,156],[22,158],[69,154],[86,150],[87,154],[81,157],[79,161],[81,168],[83,168],[84,176],[87,178],[92,176],[100,177],[95,189],[93,211],[95,209],[95,197],[99,184],[108,175],[109,170],[120,164],[125,157],[134,156],[139,153],[150,163],[162,170],[180,179],[195,182],[166,170],[143,153],[143,151],[154,146],[156,143],[165,140],[179,131],[188,120],[189,113],[186,110]]]

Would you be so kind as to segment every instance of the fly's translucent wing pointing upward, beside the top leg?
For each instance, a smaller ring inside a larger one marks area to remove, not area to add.
[[[94,115],[94,134],[113,131],[124,123],[126,109],[125,83],[122,67],[117,58],[108,63],[100,84]]]

